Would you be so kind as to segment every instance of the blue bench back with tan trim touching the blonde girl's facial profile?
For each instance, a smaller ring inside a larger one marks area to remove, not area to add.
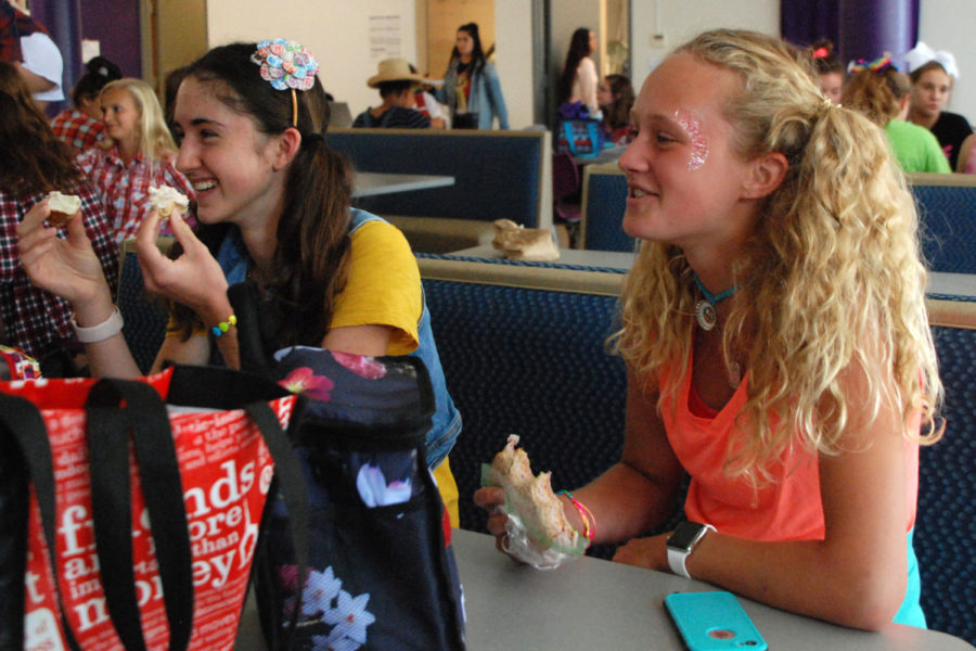
[[[580,248],[635,251],[637,241],[624,232],[627,177],[614,163],[587,165],[583,170]]]

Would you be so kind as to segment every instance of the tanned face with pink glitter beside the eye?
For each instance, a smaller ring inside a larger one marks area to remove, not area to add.
[[[749,163],[732,148],[722,113],[741,87],[730,71],[675,54],[644,81],[633,141],[620,157],[628,197],[624,230],[688,251],[742,239],[757,208],[742,201]]]

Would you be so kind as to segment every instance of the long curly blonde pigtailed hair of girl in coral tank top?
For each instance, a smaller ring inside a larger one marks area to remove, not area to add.
[[[833,106],[780,40],[720,29],[676,53],[742,79],[724,117],[744,159],[779,152],[788,162],[733,268],[737,290],[722,345],[727,359],[741,352],[748,397],[739,438],[729,442],[727,473],[758,485],[771,478],[767,465],[796,445],[843,451],[850,398],[840,374],[851,365],[865,369],[873,413],[896,405],[904,435],[935,442],[942,390],[924,304],[917,215],[884,131]],[[656,387],[666,367],[677,369],[662,387],[671,404],[690,372],[696,301],[681,250],[643,242],[625,281],[621,329],[611,343],[645,386]],[[924,435],[910,426],[920,412]]]

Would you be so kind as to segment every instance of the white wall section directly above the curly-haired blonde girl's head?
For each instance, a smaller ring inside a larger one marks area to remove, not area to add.
[[[666,54],[706,29],[734,27],[780,34],[779,0],[632,0],[630,12],[635,90]],[[664,36],[664,47],[653,40],[658,34]]]

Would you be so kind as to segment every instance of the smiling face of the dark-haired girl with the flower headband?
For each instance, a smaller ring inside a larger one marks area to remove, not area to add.
[[[231,111],[218,99],[216,84],[188,77],[177,93],[175,120],[181,137],[177,168],[196,191],[197,217],[204,224],[239,226],[274,219],[285,176],[274,169],[279,138],[260,132],[252,117]]]

